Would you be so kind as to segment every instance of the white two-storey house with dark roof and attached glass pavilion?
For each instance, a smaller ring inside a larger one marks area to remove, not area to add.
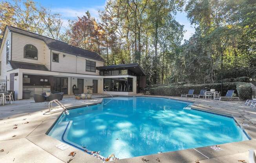
[[[23,91],[73,94],[73,88],[130,95],[145,87],[145,79],[138,63],[104,66],[97,53],[16,27],[6,26],[0,41],[0,89],[15,91],[16,99]]]

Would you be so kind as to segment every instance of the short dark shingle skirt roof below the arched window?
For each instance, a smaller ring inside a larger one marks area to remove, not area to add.
[[[30,69],[30,70],[48,71],[45,65],[27,63],[27,62],[14,62],[14,61],[9,61],[9,62],[13,69]]]

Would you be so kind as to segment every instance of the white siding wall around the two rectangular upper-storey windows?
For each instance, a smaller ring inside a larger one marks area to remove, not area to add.
[[[52,50],[52,53],[59,54],[59,62],[53,62],[53,59],[51,60],[51,71],[99,75],[98,70],[96,70],[96,72],[86,71],[86,60],[91,60],[91,59],[75,56],[72,54],[62,53],[59,51],[53,51],[53,50]],[[65,57],[63,57],[63,54],[65,55]],[[104,62],[101,62],[101,61],[97,61],[97,60],[91,60],[91,61],[96,62],[96,67],[104,65]]]

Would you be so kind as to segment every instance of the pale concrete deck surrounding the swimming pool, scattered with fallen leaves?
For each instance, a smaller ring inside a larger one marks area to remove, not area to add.
[[[75,100],[73,97],[64,97],[61,101],[67,107],[73,105],[91,105],[101,103],[100,95],[90,100]],[[112,163],[242,163],[248,160],[248,150],[256,149],[256,110],[244,105],[245,101],[213,101],[167,96],[176,100],[194,102],[192,108],[232,115],[251,136],[251,140],[221,144],[222,150],[216,151],[210,147],[164,152],[148,156],[139,156],[128,159],[110,161]],[[53,114],[44,113],[48,110],[48,102],[34,103],[33,100],[15,101],[13,105],[0,106],[0,163],[102,163],[103,161],[69,147],[60,150],[55,145],[62,142],[46,135],[46,132],[55,123],[62,112]],[[28,123],[27,123],[28,122]],[[16,128],[17,127],[17,128]],[[15,129],[16,128],[16,129]],[[200,134],[200,133],[198,133]],[[3,152],[2,149],[4,150]],[[75,156],[68,156],[75,151]],[[255,150],[256,151],[256,150]],[[143,159],[142,159],[143,158]],[[240,160],[240,161],[239,161]]]

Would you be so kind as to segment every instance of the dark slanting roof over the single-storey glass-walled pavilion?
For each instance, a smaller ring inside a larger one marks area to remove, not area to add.
[[[146,76],[143,68],[139,65],[139,63],[129,63],[123,65],[109,65],[109,66],[100,66],[96,67],[97,70],[123,70],[128,69],[134,72],[137,75]]]

